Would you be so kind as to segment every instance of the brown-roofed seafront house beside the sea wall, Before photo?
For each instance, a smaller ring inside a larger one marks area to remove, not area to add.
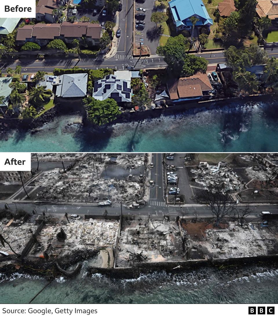
[[[212,90],[206,74],[200,72],[190,77],[173,79],[167,82],[170,99],[202,97]]]

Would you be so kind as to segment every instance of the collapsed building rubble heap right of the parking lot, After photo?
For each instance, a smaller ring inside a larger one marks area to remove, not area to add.
[[[244,185],[241,178],[225,162],[218,162],[216,166],[211,166],[207,162],[199,162],[198,169],[190,171],[194,174],[195,182],[204,187],[224,184],[226,191],[237,192]]]

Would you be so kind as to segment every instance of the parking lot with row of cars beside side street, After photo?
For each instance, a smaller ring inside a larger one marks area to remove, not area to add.
[[[186,171],[186,168],[184,165],[185,155],[186,155],[185,153],[174,153],[173,155],[171,155],[174,157],[174,160],[166,159],[166,157],[168,155],[165,155],[165,167],[167,167],[167,165],[174,165],[175,166],[176,171],[173,171],[173,172],[177,173],[176,176],[179,178],[178,188],[180,189],[180,192],[178,194],[183,195],[183,199],[184,199],[186,204],[192,204],[193,203],[193,201],[192,201],[193,191],[190,187],[187,171]],[[166,173],[168,173],[168,172],[171,172],[171,170],[166,170]],[[177,185],[168,184],[167,195],[169,195],[169,190],[172,187],[177,187]],[[168,196],[168,200],[171,200],[172,198],[174,198],[174,195]]]

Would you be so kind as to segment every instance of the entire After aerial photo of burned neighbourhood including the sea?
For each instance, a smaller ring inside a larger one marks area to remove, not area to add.
[[[275,303],[277,189],[277,153],[32,153],[0,172],[0,303]]]

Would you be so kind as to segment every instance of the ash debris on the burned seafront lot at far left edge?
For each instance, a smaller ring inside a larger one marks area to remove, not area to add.
[[[32,234],[35,233],[37,226],[34,223],[11,223],[9,227],[6,227],[8,222],[9,220],[6,218],[0,221],[0,233],[15,252],[21,253]],[[0,244],[0,249],[2,251],[12,253],[11,249],[6,243],[5,247]]]

